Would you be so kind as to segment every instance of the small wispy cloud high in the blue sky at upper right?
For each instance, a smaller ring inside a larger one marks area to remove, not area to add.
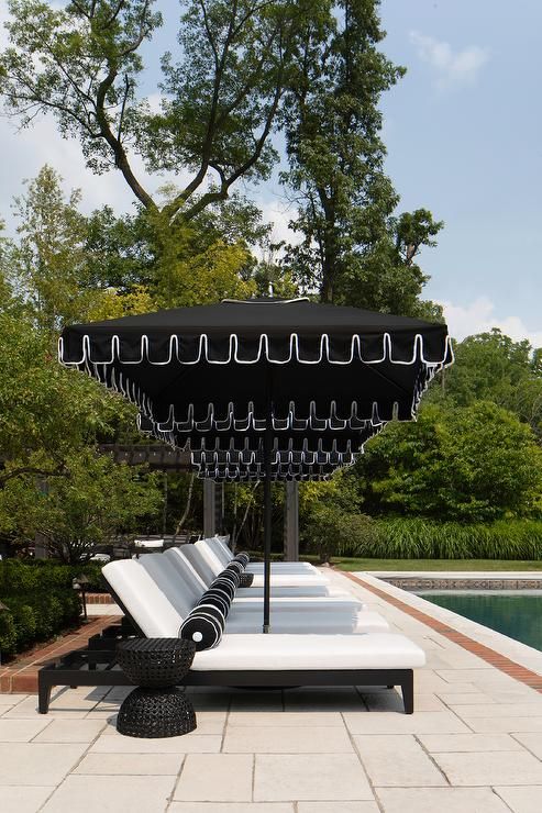
[[[489,59],[488,49],[479,45],[453,51],[450,43],[418,31],[410,32],[410,41],[416,45],[420,59],[433,68],[440,88],[472,85]]]

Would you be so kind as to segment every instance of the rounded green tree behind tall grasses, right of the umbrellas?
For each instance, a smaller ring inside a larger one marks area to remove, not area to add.
[[[489,401],[429,404],[413,424],[388,424],[354,470],[372,515],[484,522],[542,509],[542,450],[529,426]]]

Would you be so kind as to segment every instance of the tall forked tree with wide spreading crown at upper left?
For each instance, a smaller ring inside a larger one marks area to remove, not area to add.
[[[165,224],[189,222],[228,198],[237,179],[269,171],[269,135],[299,32],[320,7],[329,13],[325,0],[186,0],[180,57],[163,57],[162,109],[153,112],[137,94],[141,46],[162,24],[153,0],[73,0],[62,9],[9,0],[0,92],[23,125],[53,113],[92,170],[119,169]],[[161,208],[136,177],[133,155],[152,170],[192,175]]]

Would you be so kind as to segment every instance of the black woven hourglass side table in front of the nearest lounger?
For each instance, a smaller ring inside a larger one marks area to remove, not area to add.
[[[123,672],[139,684],[123,701],[117,731],[129,737],[177,737],[196,728],[190,700],[176,688],[196,645],[180,638],[130,638],[117,646]]]

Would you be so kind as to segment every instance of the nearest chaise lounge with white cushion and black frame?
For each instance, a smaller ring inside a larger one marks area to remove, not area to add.
[[[139,563],[111,563],[114,592],[146,637],[177,637],[179,613]],[[135,567],[132,567],[135,566]],[[111,567],[111,566],[108,566]],[[120,575],[120,576],[119,576]],[[413,712],[413,669],[424,653],[403,635],[224,634],[218,646],[197,651],[185,686],[400,686],[405,712]],[[131,686],[112,651],[80,650],[40,671],[38,709],[46,713],[53,686]]]

